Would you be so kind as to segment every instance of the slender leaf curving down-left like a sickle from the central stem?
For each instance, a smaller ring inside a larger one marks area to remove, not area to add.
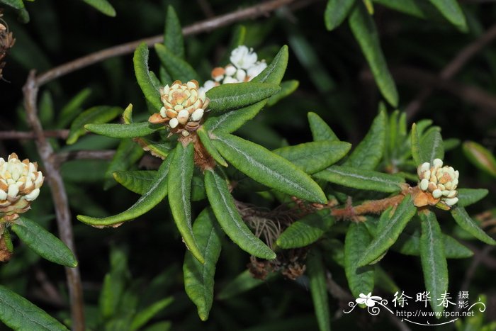
[[[154,178],[153,185],[150,186],[149,191],[143,194],[133,206],[128,208],[128,210],[106,218],[93,218],[85,215],[77,215],[77,219],[89,225],[112,226],[123,223],[126,220],[133,220],[147,211],[150,211],[150,209],[157,206],[157,204],[167,196],[167,174],[169,174],[169,166],[172,157],[174,157],[174,152],[171,152],[169,157],[167,157],[159,167],[157,176]]]

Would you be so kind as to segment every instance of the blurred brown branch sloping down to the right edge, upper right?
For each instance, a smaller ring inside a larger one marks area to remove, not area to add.
[[[400,82],[415,84],[417,86],[436,86],[436,89],[448,91],[449,93],[463,99],[463,101],[474,103],[481,110],[485,111],[487,115],[496,115],[496,97],[488,94],[483,89],[479,89],[475,86],[459,84],[447,78],[440,78],[437,77],[435,74],[431,74],[429,72],[425,72],[424,70],[416,68],[394,68],[391,70],[391,72],[393,73],[395,79]]]

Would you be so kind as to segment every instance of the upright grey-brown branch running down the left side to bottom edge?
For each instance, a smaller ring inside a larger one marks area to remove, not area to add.
[[[33,128],[36,135],[36,146],[38,153],[45,166],[45,175],[52,191],[52,198],[55,202],[55,214],[57,215],[57,228],[59,229],[60,239],[76,255],[74,247],[74,236],[72,232],[71,213],[69,203],[67,202],[67,193],[65,192],[64,182],[59,169],[55,167],[52,156],[54,151],[50,143],[46,140],[43,127],[38,118],[38,109],[36,106],[39,86],[36,84],[35,72],[29,74],[28,80],[23,87],[24,107],[29,125]],[[69,297],[71,301],[72,330],[84,330],[84,301],[81,287],[81,276],[79,267],[65,268],[67,284],[69,287]]]

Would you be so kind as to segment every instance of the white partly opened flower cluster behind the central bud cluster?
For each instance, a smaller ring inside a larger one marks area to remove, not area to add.
[[[236,47],[231,52],[230,64],[216,67],[212,70],[212,79],[205,82],[201,91],[208,91],[220,84],[249,82],[257,77],[266,67],[265,60],[257,61],[257,53],[253,48],[244,45]]]

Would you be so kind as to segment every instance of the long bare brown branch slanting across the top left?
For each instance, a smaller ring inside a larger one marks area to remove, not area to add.
[[[240,9],[239,11],[234,11],[232,13],[227,13],[225,15],[216,16],[214,18],[209,18],[205,21],[194,23],[191,26],[186,26],[183,28],[183,35],[195,35],[197,33],[202,33],[205,31],[210,31],[215,28],[220,28],[222,26],[228,26],[231,23],[237,21],[242,21],[247,18],[257,18],[260,16],[268,15],[271,11],[291,4],[295,0],[272,0],[267,1],[262,4],[257,4],[255,6],[248,7],[246,9]],[[163,35],[155,35],[150,38],[135,40],[130,43],[125,43],[122,45],[117,45],[113,47],[106,48],[105,50],[100,50],[98,52],[91,53],[84,57],[79,57],[79,59],[67,62],[58,67],[48,70],[43,74],[40,74],[36,78],[36,84],[42,86],[47,82],[51,82],[53,79],[69,74],[69,72],[74,72],[78,69],[88,67],[91,64],[96,64],[103,60],[111,57],[125,55],[133,52],[138,45],[141,43],[146,43],[148,46],[152,46],[155,43],[162,42]]]

